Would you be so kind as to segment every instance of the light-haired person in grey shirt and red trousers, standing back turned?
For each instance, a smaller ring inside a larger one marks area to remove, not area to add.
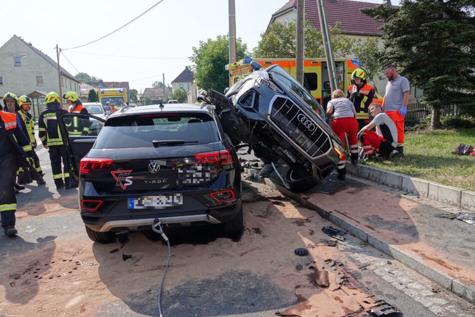
[[[358,121],[356,120],[355,105],[345,98],[345,92],[336,89],[332,93],[332,99],[327,103],[327,117],[332,117],[332,130],[338,135],[342,143],[346,146],[345,134],[348,137],[350,147],[350,159],[352,164],[358,164]],[[346,179],[346,155],[344,154],[337,164],[337,178]]]

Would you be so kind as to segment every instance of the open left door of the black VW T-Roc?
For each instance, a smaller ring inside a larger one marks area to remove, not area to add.
[[[79,162],[89,152],[104,126],[105,119],[94,115],[75,112],[64,113],[58,117],[58,127],[66,147],[66,160],[69,174],[79,180]],[[87,132],[74,131],[74,126],[88,126]]]

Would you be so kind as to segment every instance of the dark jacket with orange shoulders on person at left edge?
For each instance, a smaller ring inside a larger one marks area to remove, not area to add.
[[[16,114],[0,110],[0,157],[14,152],[22,158],[19,165],[29,165],[26,157],[32,156],[31,145],[16,125]]]

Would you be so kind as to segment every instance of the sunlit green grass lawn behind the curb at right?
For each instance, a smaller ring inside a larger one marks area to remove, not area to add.
[[[459,143],[475,147],[475,128],[406,132],[404,157],[362,163],[475,191],[475,156],[452,154]]]

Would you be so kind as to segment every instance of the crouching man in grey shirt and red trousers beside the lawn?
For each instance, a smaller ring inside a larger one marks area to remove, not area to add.
[[[388,114],[383,112],[379,103],[370,105],[370,113],[374,116],[373,120],[358,132],[363,151],[367,155],[367,160],[376,160],[376,153],[390,158],[398,145],[396,124]],[[376,132],[371,131],[373,127],[376,127]]]

